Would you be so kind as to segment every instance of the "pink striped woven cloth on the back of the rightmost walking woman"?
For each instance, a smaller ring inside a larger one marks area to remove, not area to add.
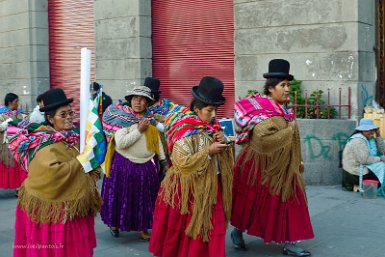
[[[266,96],[257,94],[240,99],[235,103],[234,111],[235,142],[246,143],[255,125],[274,116],[282,116],[287,121],[294,120],[292,109],[288,110]]]

